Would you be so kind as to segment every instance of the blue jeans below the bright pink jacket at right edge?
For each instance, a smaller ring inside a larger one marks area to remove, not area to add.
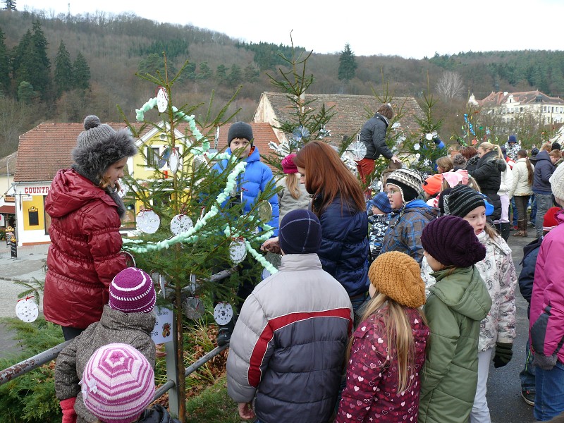
[[[537,394],[534,398],[534,418],[545,422],[564,411],[564,364],[557,362],[550,370],[535,367]]]

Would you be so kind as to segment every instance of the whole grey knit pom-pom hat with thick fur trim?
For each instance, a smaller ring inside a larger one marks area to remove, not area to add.
[[[127,129],[116,132],[93,115],[85,118],[84,128],[72,152],[73,168],[95,185],[99,185],[108,166],[137,154],[135,140]]]

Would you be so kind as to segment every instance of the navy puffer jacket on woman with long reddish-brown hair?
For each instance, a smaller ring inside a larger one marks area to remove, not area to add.
[[[324,271],[341,282],[350,297],[368,291],[368,216],[341,201],[326,207],[319,216],[321,248],[317,255]]]

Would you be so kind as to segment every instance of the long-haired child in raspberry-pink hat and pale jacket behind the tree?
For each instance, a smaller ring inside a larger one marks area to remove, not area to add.
[[[277,187],[282,189],[278,191],[278,205],[280,207],[279,221],[290,210],[307,209],[309,207],[309,200],[312,196],[305,189],[305,185],[300,183],[300,173],[294,164],[295,154],[288,154],[282,160],[282,171],[286,176],[278,180]]]

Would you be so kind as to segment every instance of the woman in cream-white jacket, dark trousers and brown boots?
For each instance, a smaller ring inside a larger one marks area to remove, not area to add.
[[[527,206],[533,193],[533,175],[534,166],[527,157],[527,150],[520,149],[513,165],[513,183],[509,192],[509,196],[515,199],[517,216],[520,217],[517,221],[517,232],[513,236],[527,236]]]

